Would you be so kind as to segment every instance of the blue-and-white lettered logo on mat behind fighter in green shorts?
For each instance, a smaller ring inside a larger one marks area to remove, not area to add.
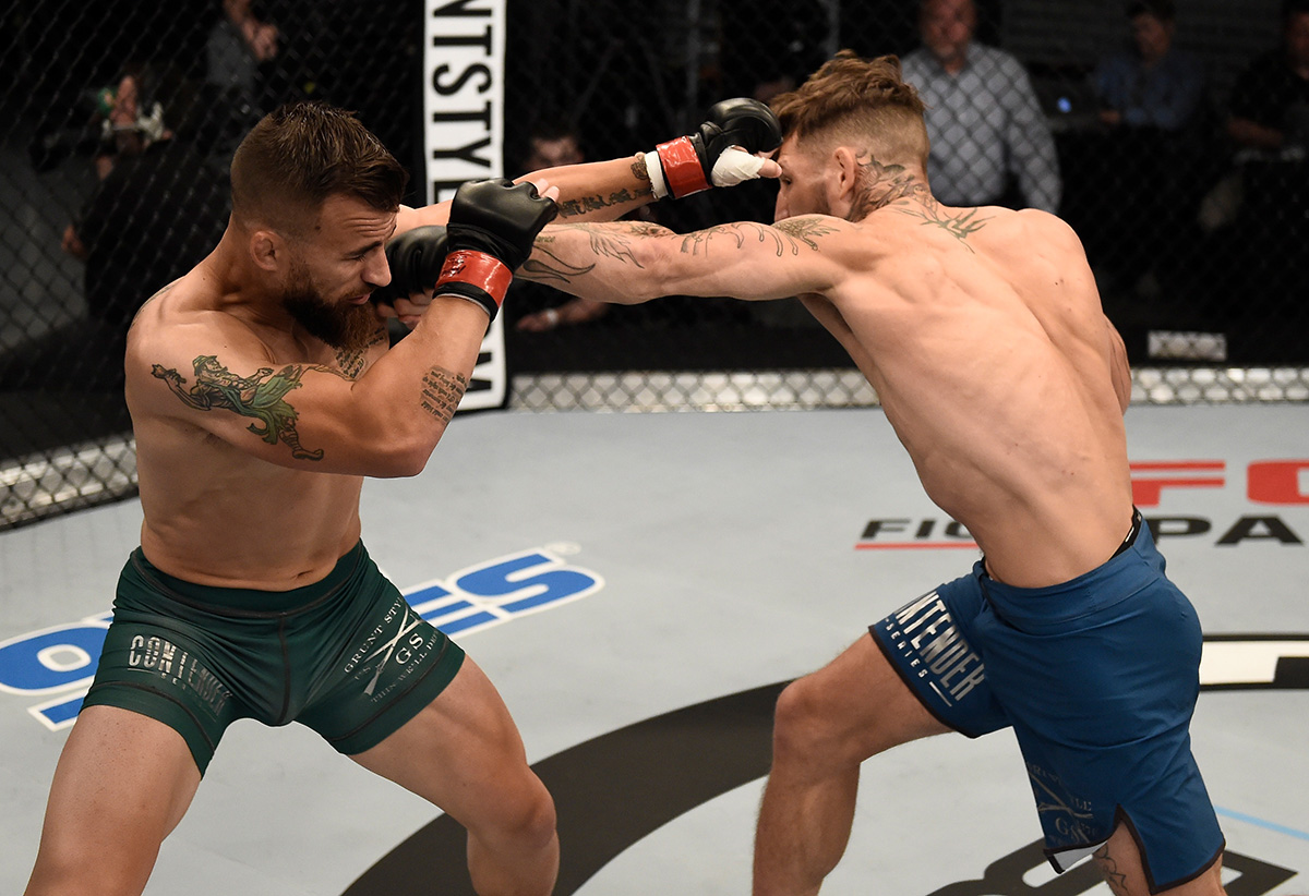
[[[461,569],[404,591],[414,610],[450,636],[552,610],[594,594],[605,581],[546,548]],[[72,725],[96,675],[113,613],[27,632],[0,642],[0,692],[42,696],[27,712],[50,730]]]

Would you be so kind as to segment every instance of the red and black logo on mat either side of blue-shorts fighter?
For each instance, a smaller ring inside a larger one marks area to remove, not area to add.
[[[1132,501],[1141,509],[1157,542],[1178,538],[1211,538],[1216,547],[1238,544],[1304,545],[1297,531],[1283,517],[1291,508],[1309,508],[1309,460],[1255,460],[1244,477],[1229,471],[1225,460],[1143,460],[1132,462]],[[1244,481],[1242,481],[1244,480]],[[1236,519],[1210,519],[1199,515],[1152,513],[1162,496],[1192,489],[1245,487],[1246,500],[1255,513]],[[860,551],[915,548],[977,549],[969,531],[953,519],[869,519],[864,525]]]

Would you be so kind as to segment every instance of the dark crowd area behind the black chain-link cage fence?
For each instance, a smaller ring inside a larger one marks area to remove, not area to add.
[[[416,0],[4,5],[0,457],[127,432],[123,332],[221,234],[230,153],[264,111],[302,97],[356,110],[414,174],[407,201],[424,201],[424,9]],[[1179,128],[1114,127],[1100,114],[1089,85],[1128,46],[1123,3],[977,0],[977,41],[1013,54],[1030,76],[1058,156],[1056,211],[1083,237],[1132,361],[1305,365],[1305,153],[1289,141],[1242,149],[1227,128],[1241,72],[1278,47],[1279,0],[1178,0],[1174,46],[1206,78],[1202,106]],[[534,139],[569,143],[568,158],[630,156],[689,132],[720,98],[795,86],[838,48],[905,55],[920,43],[914,0],[509,0],[507,16],[509,175],[534,165]],[[123,114],[128,93],[134,120],[115,129],[114,103]],[[997,201],[1024,204],[1013,190]],[[689,230],[771,212],[771,184],[751,183],[660,203],[647,217]],[[670,297],[533,324],[567,301],[514,286],[513,373],[850,366],[797,302]]]

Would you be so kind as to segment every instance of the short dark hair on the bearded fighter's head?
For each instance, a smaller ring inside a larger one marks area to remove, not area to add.
[[[329,196],[394,212],[408,173],[353,112],[287,103],[260,119],[232,157],[232,212],[296,229]]]

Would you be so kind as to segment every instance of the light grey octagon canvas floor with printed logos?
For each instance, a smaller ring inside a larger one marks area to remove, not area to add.
[[[1195,752],[1232,896],[1309,891],[1309,407],[1136,407],[1136,496],[1206,629]],[[513,712],[560,811],[556,892],[749,892],[768,709],[975,557],[877,409],[493,412],[364,489],[382,569]],[[0,535],[0,892],[22,891],[135,501]],[[459,607],[462,604],[462,607]],[[236,725],[147,889],[462,893],[440,811],[310,731]],[[1107,893],[1054,880],[1012,735],[864,767],[826,892]]]

